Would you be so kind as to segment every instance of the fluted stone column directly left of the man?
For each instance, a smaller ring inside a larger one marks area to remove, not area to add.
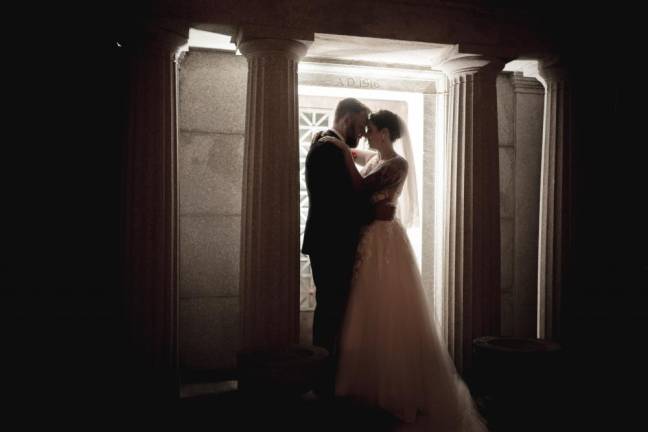
[[[239,43],[248,60],[241,226],[243,349],[299,340],[297,63],[288,39]]]

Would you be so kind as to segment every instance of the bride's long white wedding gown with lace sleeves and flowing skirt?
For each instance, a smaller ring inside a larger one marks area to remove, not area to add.
[[[407,162],[373,158],[374,202],[394,204]],[[429,316],[421,275],[401,223],[376,220],[362,234],[342,330],[336,394],[379,406],[430,431],[486,431]]]

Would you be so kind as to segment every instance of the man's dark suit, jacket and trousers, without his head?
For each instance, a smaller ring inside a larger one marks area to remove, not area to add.
[[[338,138],[331,130],[326,136]],[[330,352],[335,368],[360,228],[373,218],[373,209],[366,195],[353,190],[342,150],[321,138],[306,157],[306,186],[302,252],[310,256],[316,287],[313,344]]]

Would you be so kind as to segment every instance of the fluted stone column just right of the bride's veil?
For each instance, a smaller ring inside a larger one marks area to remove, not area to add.
[[[500,220],[497,94],[503,62],[475,55],[446,60],[448,346],[459,370],[472,340],[500,331]]]

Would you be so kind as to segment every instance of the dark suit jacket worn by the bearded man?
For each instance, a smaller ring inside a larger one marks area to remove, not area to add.
[[[336,137],[333,131],[324,136]],[[355,254],[360,228],[373,218],[367,194],[353,190],[342,150],[321,139],[306,156],[309,209],[302,252]]]

